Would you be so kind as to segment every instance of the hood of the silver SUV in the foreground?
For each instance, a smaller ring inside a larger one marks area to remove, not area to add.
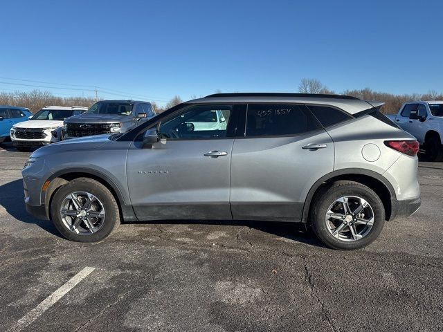
[[[62,140],[61,142],[55,142],[51,145],[45,145],[35,150],[31,157],[39,158],[46,156],[47,154],[55,154],[57,152],[66,152],[74,150],[91,150],[98,149],[109,142],[109,134],[87,136],[81,138],[73,138],[71,140]]]

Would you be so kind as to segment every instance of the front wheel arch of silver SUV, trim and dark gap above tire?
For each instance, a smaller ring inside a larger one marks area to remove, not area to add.
[[[63,169],[59,172],[55,172],[46,180],[51,182],[44,192],[42,201],[44,203],[46,216],[48,216],[48,218],[51,217],[51,202],[55,192],[57,192],[62,185],[74,180],[75,178],[91,178],[98,181],[102,185],[105,185],[105,187],[107,187],[107,189],[114,196],[114,199],[116,199],[123,221],[137,220],[134,210],[132,209],[132,205],[125,203],[122,190],[114,181],[112,181],[111,178],[109,178],[109,176],[93,169],[83,169],[80,167]]]

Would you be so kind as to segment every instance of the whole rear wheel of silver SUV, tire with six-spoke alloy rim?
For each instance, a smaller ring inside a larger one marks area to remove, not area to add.
[[[347,203],[340,202],[343,200]],[[345,204],[349,206],[349,214],[345,213]],[[365,208],[352,216],[363,205]],[[337,181],[323,187],[311,206],[310,222],[314,234],[326,246],[338,250],[368,246],[377,239],[385,222],[385,208],[379,196],[369,187],[352,181]],[[329,209],[334,213],[330,214]],[[366,221],[372,222],[365,225]]]

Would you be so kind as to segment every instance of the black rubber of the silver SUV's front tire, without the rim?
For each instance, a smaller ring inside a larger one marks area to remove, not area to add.
[[[75,234],[75,232],[69,230],[68,227],[64,225],[62,216],[60,215],[60,209],[66,196],[73,192],[89,192],[93,194],[93,196],[96,196],[102,203],[103,209],[105,210],[105,218],[102,221],[101,228],[97,230],[97,232],[91,234]],[[51,201],[51,219],[57,230],[66,237],[66,239],[77,242],[98,242],[108,237],[120,224],[120,210],[114,195],[105,185],[91,178],[76,178],[55,192]]]

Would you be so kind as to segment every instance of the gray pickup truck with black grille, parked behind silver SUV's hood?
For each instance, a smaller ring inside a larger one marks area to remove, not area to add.
[[[64,121],[64,138],[125,133],[141,122],[156,116],[149,102],[102,100],[80,116]]]

